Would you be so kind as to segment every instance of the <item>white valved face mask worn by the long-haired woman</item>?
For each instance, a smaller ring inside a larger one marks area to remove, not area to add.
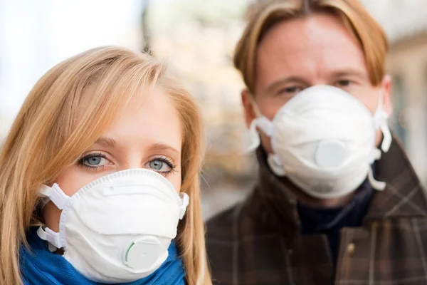
[[[62,209],[59,232],[38,229],[86,278],[125,283],[144,278],[168,256],[189,197],[152,170],[130,169],[101,177],[67,196],[54,184],[41,195]]]

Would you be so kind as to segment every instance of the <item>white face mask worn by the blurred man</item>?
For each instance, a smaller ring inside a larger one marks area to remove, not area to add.
[[[312,86],[283,105],[272,121],[264,116],[253,120],[251,148],[260,144],[258,127],[271,139],[270,169],[318,199],[347,195],[367,177],[374,189],[383,190],[385,183],[376,181],[371,170],[381,157],[375,145],[376,130],[384,135],[381,150],[387,152],[391,145],[382,104],[380,95],[372,115],[342,89]]]

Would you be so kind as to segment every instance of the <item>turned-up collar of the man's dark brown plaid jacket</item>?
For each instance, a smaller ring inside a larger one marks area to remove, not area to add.
[[[279,178],[271,172],[261,147],[256,155],[259,163],[258,185],[246,199],[243,209],[270,231],[295,234],[300,227],[300,218],[297,199],[292,192],[298,188],[288,179]],[[386,182],[386,188],[374,193],[365,222],[371,219],[427,216],[423,186],[395,138],[389,152],[383,153],[381,159],[376,161],[375,171],[376,180]]]

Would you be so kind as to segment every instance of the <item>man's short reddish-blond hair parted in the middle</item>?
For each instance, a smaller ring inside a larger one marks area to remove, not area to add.
[[[248,90],[254,92],[258,45],[275,24],[315,13],[338,16],[364,51],[369,79],[381,83],[388,42],[379,24],[357,0],[264,0],[248,10],[248,25],[234,53],[234,66],[241,71]]]

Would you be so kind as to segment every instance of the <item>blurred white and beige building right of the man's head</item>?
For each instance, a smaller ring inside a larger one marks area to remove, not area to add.
[[[393,79],[391,127],[427,184],[427,1],[365,0],[390,41]]]

